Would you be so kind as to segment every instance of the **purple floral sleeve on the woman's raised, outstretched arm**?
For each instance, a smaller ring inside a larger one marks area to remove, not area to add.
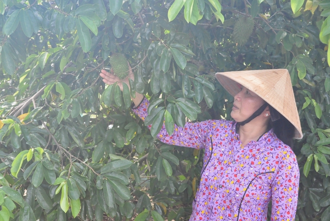
[[[137,114],[143,121],[148,116],[148,106],[149,101],[145,97],[140,105],[132,108],[132,111]],[[169,135],[165,129],[165,124],[157,138],[164,143],[170,145],[178,145],[185,147],[192,147],[201,149],[204,148],[208,139],[207,134],[209,132],[209,121],[198,122],[198,123],[189,123],[187,122],[184,127],[174,125],[173,134]],[[148,128],[151,128],[151,125],[148,125]]]

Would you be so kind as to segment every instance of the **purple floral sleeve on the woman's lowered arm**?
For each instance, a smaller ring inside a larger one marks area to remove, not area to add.
[[[279,158],[281,161],[272,185],[271,221],[294,221],[299,188],[297,158],[291,148],[281,151]]]

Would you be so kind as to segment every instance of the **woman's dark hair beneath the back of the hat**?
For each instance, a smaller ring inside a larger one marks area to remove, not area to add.
[[[293,137],[295,136],[295,126],[293,126],[290,121],[288,121],[281,113],[276,111],[274,108],[269,106],[271,113],[279,114],[280,118],[276,121],[269,121],[270,126],[273,128],[276,136],[286,145],[292,148],[293,146]],[[276,111],[276,112],[275,112]]]

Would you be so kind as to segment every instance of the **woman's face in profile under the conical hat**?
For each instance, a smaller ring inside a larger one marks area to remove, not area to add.
[[[234,104],[231,111],[231,117],[236,122],[247,120],[255,111],[257,111],[265,101],[254,94],[246,87],[241,86],[241,91],[234,96]]]

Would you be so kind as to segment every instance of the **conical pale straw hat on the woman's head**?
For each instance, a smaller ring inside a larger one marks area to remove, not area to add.
[[[215,77],[232,96],[241,91],[237,83],[259,95],[296,127],[294,138],[302,138],[296,100],[287,69],[230,71],[216,73]]]

